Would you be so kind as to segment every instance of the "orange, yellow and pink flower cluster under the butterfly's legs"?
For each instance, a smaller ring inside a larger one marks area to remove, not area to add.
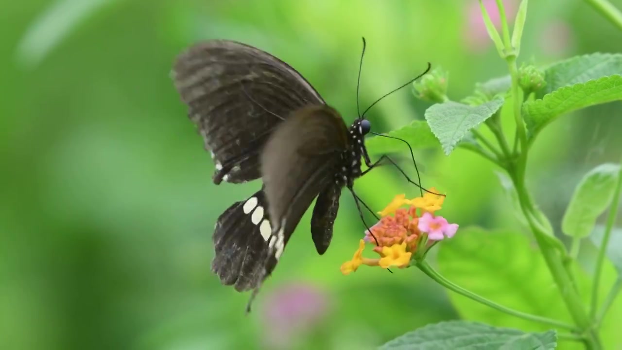
[[[442,216],[434,215],[440,210],[445,196],[437,194],[434,187],[422,197],[407,199],[397,195],[386,208],[378,212],[380,221],[365,232],[352,260],[341,265],[341,273],[348,275],[361,265],[382,268],[406,268],[413,254],[425,253],[434,242],[451,238],[458,230],[457,224],[449,224]],[[403,208],[407,206],[407,208]],[[365,244],[374,245],[379,258],[363,257]]]

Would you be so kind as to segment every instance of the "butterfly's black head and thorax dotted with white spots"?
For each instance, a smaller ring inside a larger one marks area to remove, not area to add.
[[[361,158],[369,159],[365,148],[365,134],[369,121],[357,119],[348,131],[348,148],[341,154],[341,169],[335,173],[335,183],[348,188],[361,176]]]

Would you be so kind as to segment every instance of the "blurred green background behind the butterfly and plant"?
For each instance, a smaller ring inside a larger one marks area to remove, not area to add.
[[[506,4],[513,14],[517,2]],[[529,6],[522,62],[622,49],[620,31],[580,0]],[[450,72],[455,100],[506,73],[476,1],[3,1],[0,348],[371,349],[458,318],[445,291],[417,270],[341,275],[364,230],[347,192],[328,252],[315,252],[306,215],[251,315],[248,295],[210,273],[216,217],[259,183],[211,183],[210,156],[169,78],[175,56],[202,39],[256,45],[299,70],[350,123],[361,36],[361,107],[427,62]],[[389,131],[422,119],[428,106],[406,88],[369,119],[374,131]],[[619,159],[620,108],[565,116],[534,144],[529,186],[558,232],[582,174]],[[415,156],[423,184],[448,194],[441,214],[450,222],[521,232],[485,160],[461,149],[447,157],[440,147]],[[398,175],[381,169],[355,189],[380,210],[395,194],[418,193]],[[465,242],[457,258],[480,254]],[[477,272],[463,279],[473,283]],[[274,316],[283,309],[290,312]]]

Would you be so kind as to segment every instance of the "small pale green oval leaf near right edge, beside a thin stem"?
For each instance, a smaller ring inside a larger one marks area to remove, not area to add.
[[[613,199],[620,166],[601,164],[589,171],[575,188],[562,219],[562,232],[570,237],[588,237],[596,219]]]

